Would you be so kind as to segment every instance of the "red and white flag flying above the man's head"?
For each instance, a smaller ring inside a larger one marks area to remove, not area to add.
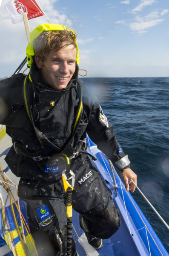
[[[23,21],[23,12],[26,12],[29,20],[44,15],[35,0],[10,0],[5,4],[5,8],[11,15],[13,24]]]

